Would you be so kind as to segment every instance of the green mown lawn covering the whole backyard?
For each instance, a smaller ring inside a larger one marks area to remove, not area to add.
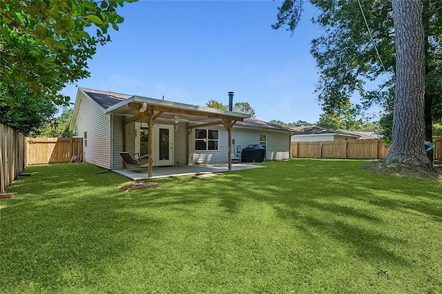
[[[442,182],[292,159],[218,177],[30,166],[0,202],[2,293],[441,293]]]

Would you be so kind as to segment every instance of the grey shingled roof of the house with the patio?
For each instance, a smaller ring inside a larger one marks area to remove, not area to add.
[[[164,101],[161,99],[153,99],[148,97],[140,97],[135,95],[126,95],[116,92],[108,92],[102,90],[93,90],[88,88],[80,88],[81,91],[86,93],[91,99],[93,99],[99,106],[102,106],[106,110],[106,113],[111,113],[117,110],[122,104],[126,104],[128,101],[146,101],[150,104],[160,104],[167,107],[178,107],[178,108],[189,108],[189,110],[198,110],[210,113],[220,113],[222,115],[230,115],[231,112],[227,110],[218,110],[215,108],[206,108],[201,106],[193,106],[190,104],[181,104],[172,101]],[[244,113],[234,112],[238,117],[242,117],[243,121],[237,121],[235,126],[243,126],[249,128],[266,128],[271,130],[283,130],[291,132],[290,128],[285,128],[283,126],[278,126],[276,124],[270,124],[266,121],[261,121],[259,119],[248,118],[249,115]]]

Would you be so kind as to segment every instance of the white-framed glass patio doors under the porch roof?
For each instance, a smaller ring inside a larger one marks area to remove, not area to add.
[[[153,127],[153,166],[173,166],[173,126],[154,124]],[[146,123],[135,123],[135,153],[147,154],[148,128]]]

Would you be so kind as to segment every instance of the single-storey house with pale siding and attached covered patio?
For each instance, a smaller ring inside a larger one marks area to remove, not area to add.
[[[84,138],[85,161],[103,168],[124,168],[122,151],[149,154],[149,177],[153,166],[230,168],[249,144],[265,146],[269,160],[288,159],[292,132],[244,113],[87,88],[77,92],[70,130]]]

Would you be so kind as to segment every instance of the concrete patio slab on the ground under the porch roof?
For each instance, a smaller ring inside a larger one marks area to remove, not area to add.
[[[231,170],[246,170],[250,168],[263,168],[256,164],[231,164]],[[193,166],[159,166],[153,167],[152,176],[149,177],[145,168],[123,168],[113,170],[129,179],[157,179],[160,177],[180,177],[184,175],[204,175],[208,173],[222,173],[229,171],[229,164],[201,164]]]

